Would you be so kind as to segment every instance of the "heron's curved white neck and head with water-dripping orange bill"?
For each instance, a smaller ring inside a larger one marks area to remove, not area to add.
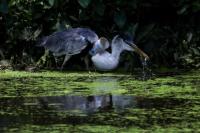
[[[92,56],[92,62],[98,70],[109,71],[115,69],[119,64],[120,54],[124,50],[134,51],[139,54],[143,60],[149,60],[148,55],[139,49],[134,43],[123,39],[119,35],[113,38],[111,50],[111,53],[104,50],[103,52],[98,52]]]

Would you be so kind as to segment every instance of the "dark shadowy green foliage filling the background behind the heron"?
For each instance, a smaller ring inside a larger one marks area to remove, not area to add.
[[[0,59],[35,64],[39,37],[89,27],[109,39],[131,33],[155,66],[200,67],[199,23],[199,0],[1,0]]]

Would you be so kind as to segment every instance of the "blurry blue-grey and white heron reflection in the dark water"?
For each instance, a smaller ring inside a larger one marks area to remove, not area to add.
[[[79,110],[82,113],[91,114],[98,111],[116,110],[122,111],[128,107],[135,106],[133,96],[58,96],[43,97],[38,99],[39,103],[47,110],[56,109],[60,111]]]

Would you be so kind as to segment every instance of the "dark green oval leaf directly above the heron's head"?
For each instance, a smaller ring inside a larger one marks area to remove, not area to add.
[[[126,14],[124,11],[118,12],[114,15],[114,22],[119,28],[122,28],[126,23]]]

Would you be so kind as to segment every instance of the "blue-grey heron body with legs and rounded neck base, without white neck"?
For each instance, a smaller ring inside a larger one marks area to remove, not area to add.
[[[51,51],[57,64],[57,57],[65,55],[64,61],[61,66],[63,69],[65,63],[72,55],[81,53],[87,50],[87,55],[93,55],[95,51],[90,49],[98,49],[103,51],[109,47],[109,42],[105,37],[98,37],[97,34],[88,28],[71,28],[60,32],[55,32],[52,35],[43,37],[40,40],[39,46]],[[85,55],[86,57],[86,55]],[[86,67],[88,69],[88,59],[84,58]]]

